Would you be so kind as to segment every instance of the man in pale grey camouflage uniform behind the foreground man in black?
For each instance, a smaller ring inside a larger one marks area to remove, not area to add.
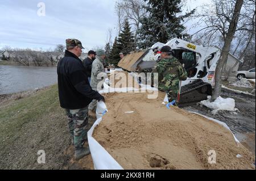
[[[96,59],[92,63],[92,75],[90,79],[90,86],[92,86],[92,89],[95,91],[100,91],[102,89],[103,84],[102,79],[100,78],[106,78],[107,75],[105,74],[104,69],[104,62],[105,62],[105,51],[102,49],[96,50]],[[97,79],[98,77],[98,79]],[[92,117],[96,117],[95,111],[96,111],[96,105],[97,100],[93,99],[92,102],[89,104],[89,115]]]

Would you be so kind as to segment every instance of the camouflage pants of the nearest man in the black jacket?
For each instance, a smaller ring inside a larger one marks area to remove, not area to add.
[[[74,138],[75,149],[80,149],[87,140],[88,106],[79,110],[65,109],[68,116],[69,133]]]

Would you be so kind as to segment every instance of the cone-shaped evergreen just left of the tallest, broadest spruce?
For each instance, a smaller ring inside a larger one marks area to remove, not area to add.
[[[128,20],[125,20],[125,26],[119,34],[118,44],[123,54],[129,54],[135,50],[134,36],[131,32],[131,27]]]

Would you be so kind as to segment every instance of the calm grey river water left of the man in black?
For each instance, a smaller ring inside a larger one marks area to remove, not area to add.
[[[55,83],[56,67],[0,65],[0,94],[34,90]]]

